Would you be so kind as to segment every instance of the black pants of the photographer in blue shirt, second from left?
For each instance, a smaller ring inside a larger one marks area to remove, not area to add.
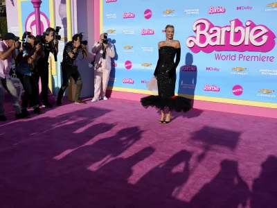
[[[32,76],[28,76],[17,73],[17,78],[19,78],[25,90],[21,107],[27,108],[29,101],[31,107],[39,107],[39,75],[32,74]]]

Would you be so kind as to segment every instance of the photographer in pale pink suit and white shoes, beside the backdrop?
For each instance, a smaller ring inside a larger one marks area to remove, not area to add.
[[[107,101],[106,90],[109,83],[109,73],[111,73],[111,58],[116,55],[114,45],[108,42],[107,33],[100,35],[99,42],[93,45],[91,52],[96,54],[93,64],[94,97],[91,102]]]

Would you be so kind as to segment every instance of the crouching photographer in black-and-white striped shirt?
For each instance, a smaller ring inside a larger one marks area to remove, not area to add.
[[[68,42],[64,46],[62,60],[62,87],[60,88],[59,94],[57,96],[58,106],[62,105],[62,97],[64,96],[64,91],[69,86],[70,77],[73,78],[77,85],[75,92],[75,103],[85,104],[84,101],[80,100],[80,95],[82,91],[82,78],[75,62],[75,60],[78,58],[79,53],[82,53],[84,57],[87,57],[87,46],[85,44],[81,44],[81,41],[82,35],[76,34],[72,37],[72,41]]]

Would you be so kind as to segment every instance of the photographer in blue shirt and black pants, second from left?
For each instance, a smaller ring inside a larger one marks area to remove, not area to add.
[[[35,65],[40,57],[43,57],[42,46],[37,44],[35,36],[27,37],[26,48],[20,49],[17,56],[17,78],[24,87],[21,110],[28,114],[27,106],[33,107],[35,114],[42,114],[39,108],[39,75]]]

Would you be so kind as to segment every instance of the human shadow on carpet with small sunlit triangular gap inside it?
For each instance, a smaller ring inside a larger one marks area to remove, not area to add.
[[[187,150],[180,150],[136,182],[135,193],[129,196],[136,207],[176,207],[175,198],[190,176],[192,155]]]

